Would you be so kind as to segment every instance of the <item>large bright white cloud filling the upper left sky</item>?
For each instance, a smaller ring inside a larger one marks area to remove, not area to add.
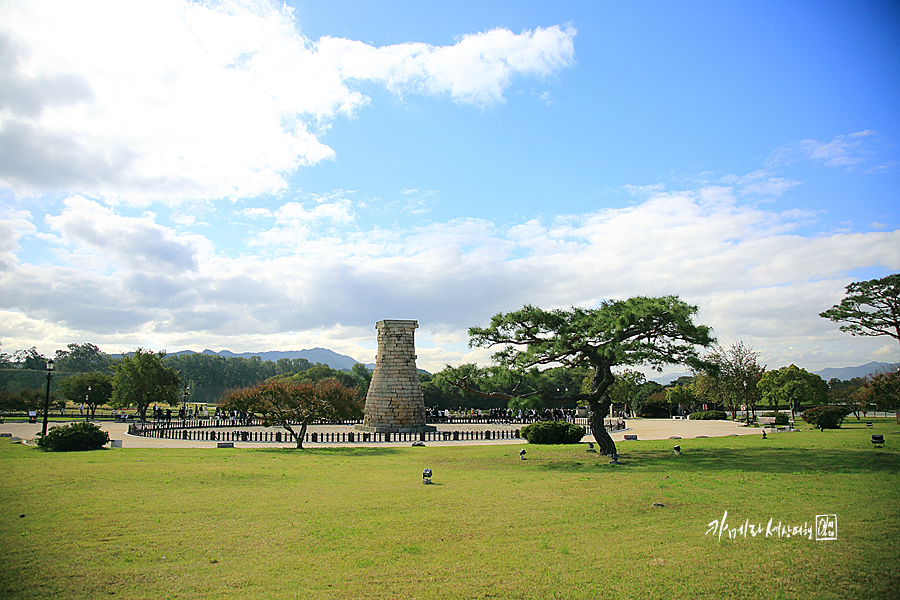
[[[311,41],[268,0],[9,0],[0,186],[138,203],[277,194],[286,174],[334,156],[329,124],[369,102],[352,80],[489,106],[514,77],[571,65],[574,35],[376,48]]]

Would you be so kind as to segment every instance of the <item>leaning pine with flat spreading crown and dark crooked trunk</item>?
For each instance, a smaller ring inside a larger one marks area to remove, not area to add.
[[[495,363],[524,374],[539,365],[586,367],[586,390],[545,392],[549,399],[584,400],[591,408],[591,430],[605,454],[615,443],[603,426],[609,412],[614,367],[682,363],[703,366],[698,346],[713,343],[711,329],[693,322],[697,307],[678,296],[605,300],[598,308],[543,310],[526,305],[498,313],[488,327],[469,329],[469,345],[494,347]],[[461,385],[467,385],[460,382]]]

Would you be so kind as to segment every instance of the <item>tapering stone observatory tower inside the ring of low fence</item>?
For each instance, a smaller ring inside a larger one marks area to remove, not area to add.
[[[366,416],[356,428],[370,432],[417,433],[425,425],[425,398],[416,370],[418,321],[384,320],[378,330],[378,355],[366,395]]]

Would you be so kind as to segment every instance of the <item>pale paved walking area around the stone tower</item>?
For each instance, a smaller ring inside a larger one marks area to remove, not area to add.
[[[52,421],[50,427],[64,425],[71,421]],[[166,440],[159,438],[147,438],[128,435],[128,425],[125,423],[115,423],[112,421],[98,421],[101,429],[109,433],[112,440],[122,440],[123,448],[215,448],[216,442],[200,442],[189,440]],[[629,419],[626,421],[627,429],[623,431],[615,431],[610,435],[613,440],[618,443],[625,439],[625,435],[637,435],[638,440],[664,440],[672,436],[678,436],[683,439],[696,438],[700,436],[706,437],[724,437],[728,435],[762,435],[762,430],[753,427],[747,428],[741,424],[732,421],[689,421],[674,419]],[[476,424],[441,424],[437,426],[439,431],[500,431],[509,429],[521,429],[521,424],[496,424],[496,425],[476,425]],[[217,428],[217,430],[225,430],[227,428]],[[241,431],[265,430],[264,427],[237,427]],[[31,440],[35,434],[40,432],[40,423],[4,423],[0,425],[0,433],[11,433],[13,436],[23,440]],[[270,428],[270,431],[283,431],[280,428]],[[354,443],[316,443],[309,441],[309,435],[312,432],[344,432],[355,431],[349,425],[314,425],[307,430],[306,441],[303,442],[305,447],[309,448],[325,448],[325,447],[351,447],[351,446],[378,446],[378,447],[403,447],[409,446],[410,442],[354,442]],[[771,429],[767,431],[771,432]],[[583,442],[593,442],[593,436],[586,436]],[[525,440],[469,440],[458,442],[427,442],[429,446],[460,446],[460,445],[496,445],[496,444],[525,444]],[[295,444],[293,442],[234,442],[235,448],[273,448],[283,447],[291,448]]]

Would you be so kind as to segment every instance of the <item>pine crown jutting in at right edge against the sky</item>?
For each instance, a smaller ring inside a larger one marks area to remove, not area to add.
[[[819,316],[850,335],[887,335],[900,343],[900,273],[847,286],[847,295]]]

